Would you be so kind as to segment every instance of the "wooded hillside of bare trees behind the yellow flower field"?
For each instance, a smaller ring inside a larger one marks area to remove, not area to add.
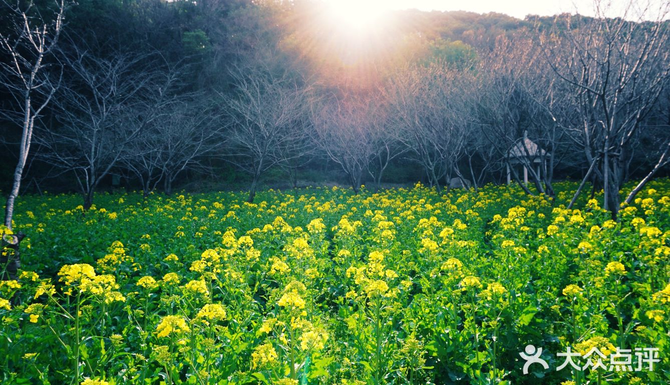
[[[54,27],[60,4],[25,191],[90,205],[123,186],[243,183],[253,200],[263,183],[526,178],[551,196],[572,177],[616,212],[623,183],[667,173],[667,21],[410,10],[354,25],[318,1],[9,1],[4,41]],[[27,116],[12,49],[34,55],[7,43],[0,56],[3,191]]]

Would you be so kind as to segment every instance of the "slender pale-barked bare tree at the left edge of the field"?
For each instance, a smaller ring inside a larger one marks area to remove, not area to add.
[[[9,89],[15,101],[16,110],[7,115],[22,127],[19,160],[5,205],[5,226],[10,229],[35,121],[58,88],[58,82],[52,81],[48,74],[46,60],[58,42],[66,1],[56,0],[54,4],[49,14],[42,15],[32,1],[0,3],[0,10],[13,23],[7,34],[0,34],[0,52],[9,56],[8,62],[0,62],[0,84]]]

